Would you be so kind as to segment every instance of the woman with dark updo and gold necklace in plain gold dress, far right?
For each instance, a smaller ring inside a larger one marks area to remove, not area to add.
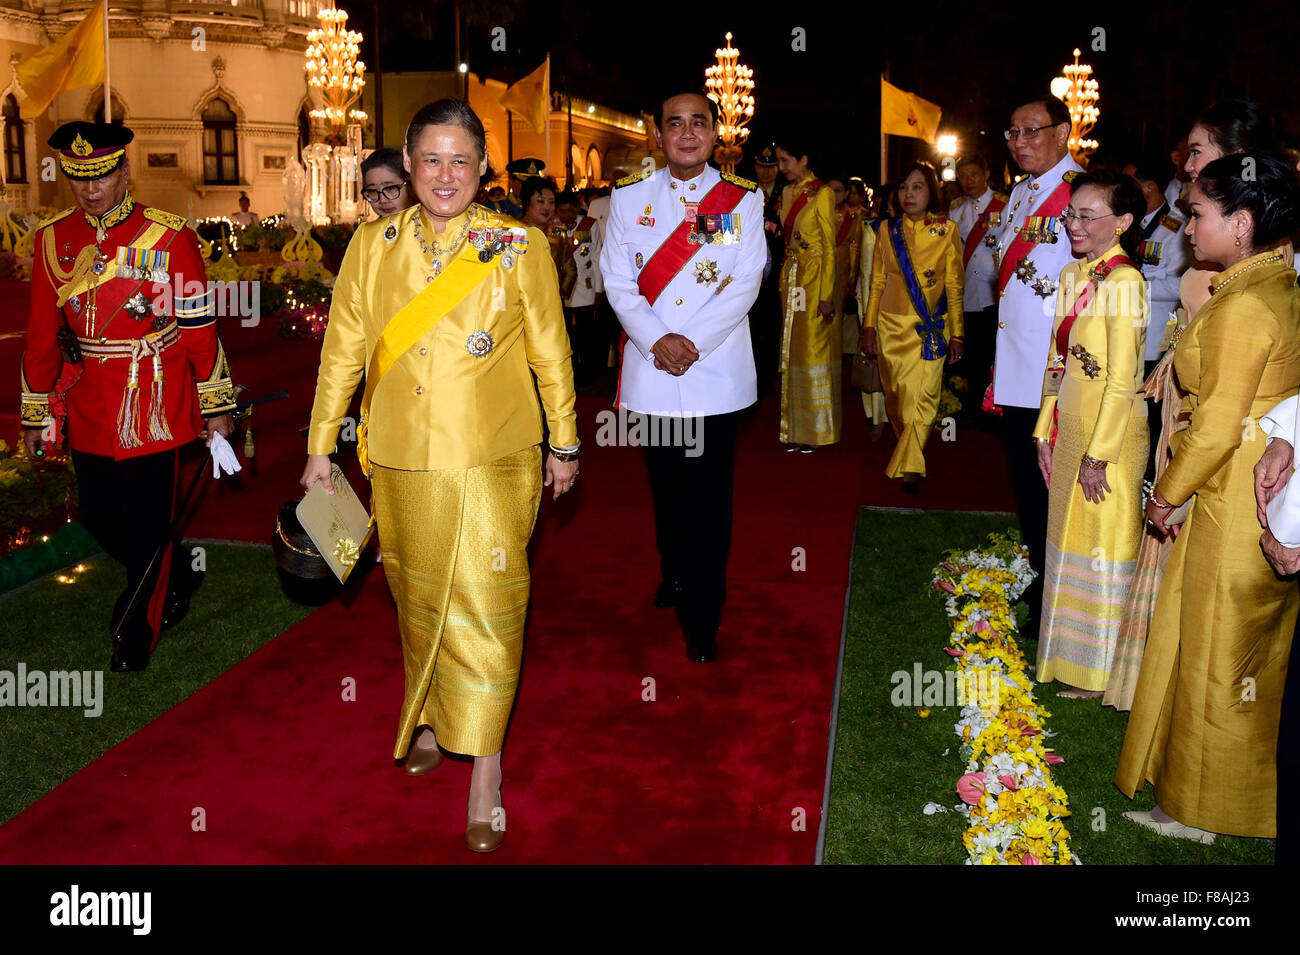
[[[1196,257],[1223,268],[1174,352],[1184,392],[1173,460],[1147,503],[1178,531],[1165,568],[1115,783],[1156,787],[1126,812],[1165,835],[1273,837],[1277,732],[1300,594],[1260,551],[1257,421],[1300,382],[1300,292],[1280,249],[1300,226],[1294,170],[1266,153],[1216,160],[1190,194]]]

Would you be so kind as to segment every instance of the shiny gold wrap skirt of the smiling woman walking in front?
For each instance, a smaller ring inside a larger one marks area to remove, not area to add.
[[[519,683],[541,450],[478,468],[374,465],[372,483],[406,670],[393,756],[421,725],[451,752],[491,756]]]

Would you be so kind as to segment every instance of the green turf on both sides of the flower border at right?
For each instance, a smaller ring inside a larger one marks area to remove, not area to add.
[[[993,531],[1017,526],[1013,516],[900,512],[863,508],[858,515],[844,648],[835,767],[827,820],[826,861],[859,864],[961,864],[965,820],[956,812],[926,816],[928,802],[959,803],[965,772],[953,724],[957,707],[894,707],[897,670],[945,670],[949,657],[944,604],[930,572],[949,548],[978,547]],[[1026,656],[1036,643],[1022,641]],[[1074,815],[1066,821],[1071,851],[1093,865],[1268,864],[1271,839],[1219,835],[1201,846],[1171,839],[1123,819],[1154,804],[1150,787],[1130,800],[1114,786],[1128,715],[1096,700],[1058,699],[1060,685],[1035,698],[1052,713],[1050,746],[1065,758],[1053,777]],[[944,755],[944,751],[948,755]]]

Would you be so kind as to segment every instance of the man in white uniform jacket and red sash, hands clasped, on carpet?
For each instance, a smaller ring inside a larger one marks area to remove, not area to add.
[[[748,314],[767,251],[757,185],[707,165],[716,138],[706,96],[664,100],[655,139],[668,165],[618,182],[599,262],[627,333],[619,414],[646,446],[655,604],[676,607],[697,663],[718,656],[736,422],[757,400]]]

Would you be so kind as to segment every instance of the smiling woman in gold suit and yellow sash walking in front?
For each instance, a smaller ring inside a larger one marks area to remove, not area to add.
[[[504,838],[525,548],[542,486],[577,479],[572,365],[546,235],[473,204],[488,173],[473,110],[424,107],[404,156],[417,204],[363,223],[334,283],[302,483],[333,492],[329,452],[364,372],[358,455],[406,669],[393,755],[411,774],[439,745],[474,758],[465,839],[488,852]]]

